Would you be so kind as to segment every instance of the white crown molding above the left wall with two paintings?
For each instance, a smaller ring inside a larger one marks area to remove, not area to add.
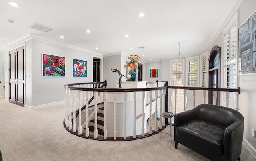
[[[53,44],[53,45],[58,45],[58,46],[61,46],[61,47],[66,47],[68,49],[73,49],[73,50],[76,50],[76,51],[82,51],[84,53],[89,53],[89,54],[92,54],[92,55],[96,55],[96,56],[100,56],[100,57],[103,57],[103,54],[102,53],[97,53],[95,51],[90,51],[90,50],[87,50],[87,49],[83,49],[83,48],[80,48],[80,47],[76,47],[76,46],[73,46],[73,45],[68,45],[68,44],[64,44],[64,43],[60,43],[58,41],[53,41],[53,40],[50,40],[50,39],[46,39],[44,37],[40,37],[40,36],[37,36],[37,35],[33,35],[33,34],[28,34],[6,46],[4,46],[4,49],[10,49],[18,44],[21,44],[21,43],[24,43],[30,39],[34,39],[34,40],[38,40],[38,41],[42,41],[42,42],[45,42],[45,43],[50,43],[50,44]]]

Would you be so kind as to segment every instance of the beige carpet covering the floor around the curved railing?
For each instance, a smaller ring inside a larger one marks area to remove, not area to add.
[[[64,106],[28,110],[0,99],[0,149],[4,161],[204,161],[202,155],[159,134],[133,141],[96,141],[70,134]],[[169,129],[169,126],[165,129]],[[242,147],[242,161],[255,161]]]

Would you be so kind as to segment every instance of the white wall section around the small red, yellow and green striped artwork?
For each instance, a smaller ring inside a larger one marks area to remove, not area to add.
[[[149,78],[149,69],[150,68],[159,68],[159,78]],[[158,81],[162,81],[162,62],[145,63],[144,69],[145,69],[145,72],[144,72],[145,81],[156,82],[157,79],[158,79]]]

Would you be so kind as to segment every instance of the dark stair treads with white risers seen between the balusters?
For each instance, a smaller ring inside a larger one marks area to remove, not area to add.
[[[98,113],[97,113],[97,129],[98,129],[98,136],[104,135],[104,107],[99,108]],[[90,120],[89,122],[89,134],[94,135],[94,122],[95,119]]]

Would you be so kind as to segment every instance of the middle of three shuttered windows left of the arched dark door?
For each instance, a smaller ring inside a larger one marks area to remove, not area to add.
[[[197,86],[197,60],[188,61],[188,85]]]

